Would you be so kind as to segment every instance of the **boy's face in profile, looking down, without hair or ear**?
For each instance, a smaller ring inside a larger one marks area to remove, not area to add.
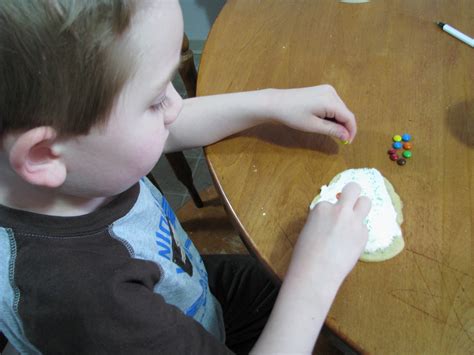
[[[178,0],[137,5],[125,40],[125,50],[136,56],[136,73],[105,127],[60,143],[68,171],[60,188],[64,193],[104,197],[132,186],[158,161],[169,126],[181,111],[182,99],[170,83],[183,36]]]

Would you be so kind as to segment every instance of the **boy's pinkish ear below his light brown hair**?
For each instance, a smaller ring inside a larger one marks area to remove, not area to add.
[[[61,186],[66,166],[54,149],[56,137],[52,127],[36,127],[15,136],[8,151],[13,170],[32,185]]]

